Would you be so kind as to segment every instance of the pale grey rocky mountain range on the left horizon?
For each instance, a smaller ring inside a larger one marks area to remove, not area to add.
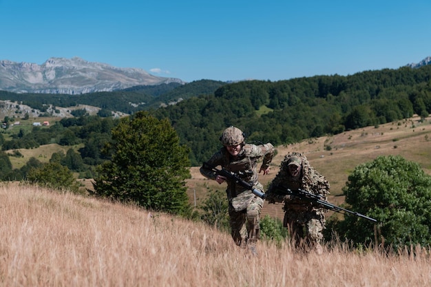
[[[178,78],[151,75],[145,70],[120,68],[81,58],[50,58],[42,65],[0,61],[0,90],[35,94],[112,92],[137,85],[182,83]]]

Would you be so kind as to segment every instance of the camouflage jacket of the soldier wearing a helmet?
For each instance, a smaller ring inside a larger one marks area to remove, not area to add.
[[[207,161],[207,163],[213,167],[219,165],[227,171],[237,173],[242,180],[249,182],[249,184],[258,184],[258,171],[257,171],[257,160],[263,158],[262,168],[266,169],[271,164],[274,156],[274,147],[271,143],[265,145],[249,145],[246,144],[242,147],[240,154],[233,158],[229,151],[225,147],[222,147],[218,152],[214,153],[213,156]],[[217,174],[211,169],[205,167],[200,168],[202,176],[215,180]],[[227,180],[227,193],[228,198],[235,197],[239,193],[244,191],[244,187],[231,180]]]

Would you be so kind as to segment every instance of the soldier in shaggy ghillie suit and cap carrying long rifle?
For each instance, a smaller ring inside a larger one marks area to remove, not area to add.
[[[330,189],[328,181],[310,166],[305,155],[289,153],[266,193],[269,203],[284,202],[283,224],[288,228],[295,246],[314,248],[321,253],[326,210],[294,195],[285,195],[283,189],[302,189],[321,195],[322,200],[326,200]]]

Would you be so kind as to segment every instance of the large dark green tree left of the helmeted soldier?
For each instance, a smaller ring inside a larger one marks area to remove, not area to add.
[[[168,120],[145,111],[122,118],[94,181],[96,196],[136,202],[146,209],[185,215],[189,209],[185,179],[190,178],[189,149]]]

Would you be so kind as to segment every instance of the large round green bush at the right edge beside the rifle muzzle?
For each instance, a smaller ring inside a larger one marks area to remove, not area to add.
[[[431,246],[431,176],[416,162],[379,156],[356,167],[343,191],[353,211],[379,222],[381,243],[393,248]],[[359,217],[347,216],[335,229],[357,244],[375,240],[372,223]]]

